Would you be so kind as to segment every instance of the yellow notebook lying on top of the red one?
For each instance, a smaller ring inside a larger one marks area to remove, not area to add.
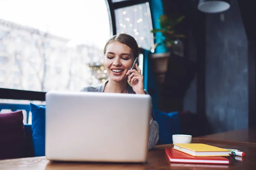
[[[187,153],[192,156],[229,156],[230,150],[208,144],[173,144],[173,149]]]

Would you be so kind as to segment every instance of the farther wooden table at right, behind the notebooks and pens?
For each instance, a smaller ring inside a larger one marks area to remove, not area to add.
[[[193,143],[204,142],[256,147],[256,128],[233,130],[193,138]]]

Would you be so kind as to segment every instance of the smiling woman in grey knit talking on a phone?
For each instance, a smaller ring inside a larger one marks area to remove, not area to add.
[[[101,85],[85,87],[81,89],[82,92],[148,94],[144,90],[143,75],[138,65],[131,69],[135,58],[139,57],[139,48],[134,37],[128,34],[114,35],[107,41],[104,54],[104,65],[109,79]],[[158,133],[158,124],[151,117],[148,149],[157,144]]]

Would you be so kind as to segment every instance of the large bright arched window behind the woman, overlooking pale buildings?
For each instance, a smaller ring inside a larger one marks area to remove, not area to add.
[[[1,0],[0,88],[79,91],[108,76],[105,0]]]

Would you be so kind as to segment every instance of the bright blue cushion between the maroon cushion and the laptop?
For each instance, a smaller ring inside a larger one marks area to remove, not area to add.
[[[30,103],[32,142],[35,156],[45,156],[45,106]]]

